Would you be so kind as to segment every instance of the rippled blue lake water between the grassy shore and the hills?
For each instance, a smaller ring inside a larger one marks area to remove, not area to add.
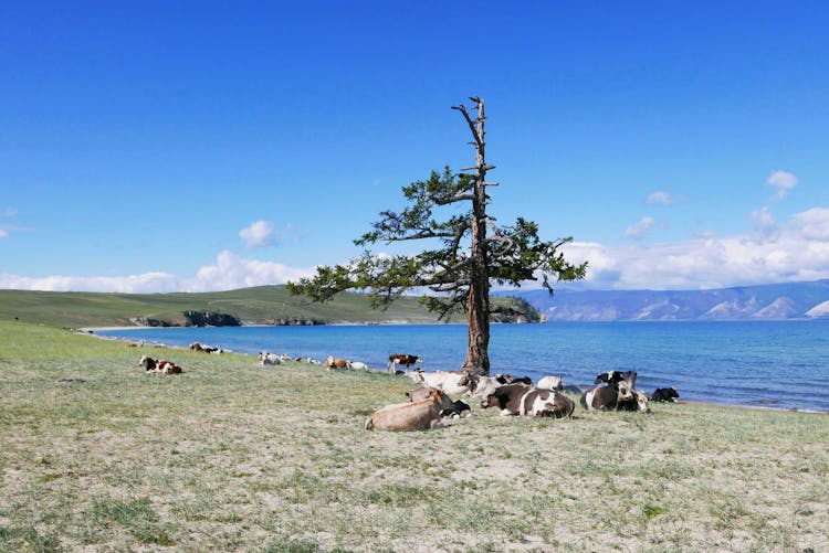
[[[463,325],[140,328],[101,336],[241,353],[326,355],[384,369],[390,353],[423,358],[424,370],[458,370]],[[681,400],[829,412],[829,321],[555,322],[494,325],[492,373],[560,375],[583,389],[597,373],[639,373],[637,387],[675,386]]]

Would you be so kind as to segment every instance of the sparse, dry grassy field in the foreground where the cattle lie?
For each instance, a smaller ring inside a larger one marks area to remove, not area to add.
[[[829,551],[825,415],[473,406],[368,432],[407,379],[22,322],[0,371],[0,551]]]

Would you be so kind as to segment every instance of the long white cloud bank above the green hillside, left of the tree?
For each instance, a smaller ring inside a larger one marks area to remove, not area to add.
[[[295,280],[313,274],[314,270],[312,269],[243,258],[225,251],[217,256],[214,264],[201,267],[191,278],[180,278],[169,273],[145,273],[120,277],[54,275],[42,278],[0,274],[0,288],[120,294],[218,291],[285,284],[287,280]]]

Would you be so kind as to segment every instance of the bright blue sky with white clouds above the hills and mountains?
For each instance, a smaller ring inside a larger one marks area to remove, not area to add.
[[[472,164],[470,95],[493,214],[573,236],[585,286],[828,278],[827,29],[806,1],[6,6],[0,288],[346,262],[401,185]]]

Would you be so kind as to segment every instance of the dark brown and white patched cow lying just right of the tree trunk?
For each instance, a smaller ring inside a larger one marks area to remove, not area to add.
[[[563,418],[573,415],[576,404],[553,390],[539,390],[526,384],[505,384],[494,390],[481,407],[501,408],[502,416],[539,416]]]

